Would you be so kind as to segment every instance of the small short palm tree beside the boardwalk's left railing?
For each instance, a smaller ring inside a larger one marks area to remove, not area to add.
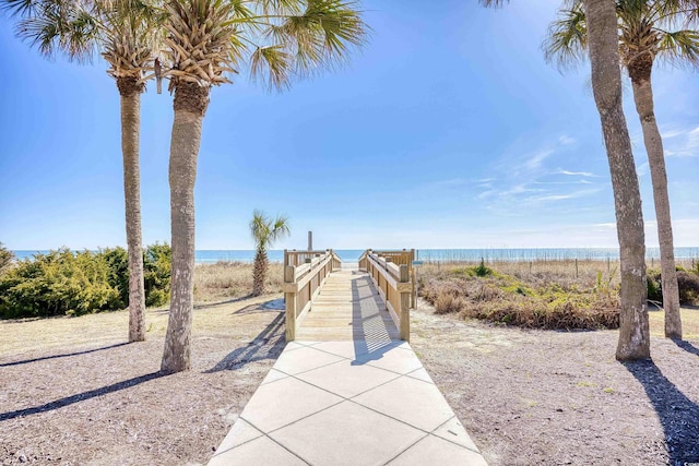
[[[252,296],[264,295],[264,282],[266,279],[266,270],[269,260],[266,250],[281,238],[289,235],[288,217],[277,215],[276,218],[270,218],[262,211],[256,210],[250,220],[250,234],[254,239],[256,253],[254,265],[252,270]]]

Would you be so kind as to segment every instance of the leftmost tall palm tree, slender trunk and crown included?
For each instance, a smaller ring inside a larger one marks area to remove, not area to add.
[[[129,251],[129,342],[145,339],[145,291],[141,239],[139,134],[144,73],[152,69],[157,11],[142,0],[90,3],[62,0],[2,0],[23,16],[17,35],[48,57],[57,51],[88,61],[96,49],[109,63],[121,100],[121,152]]]

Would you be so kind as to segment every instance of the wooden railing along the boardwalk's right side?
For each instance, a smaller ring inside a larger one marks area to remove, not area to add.
[[[363,264],[386,301],[386,308],[399,328],[400,338],[410,342],[411,295],[413,294],[410,265],[394,264],[391,258],[380,256],[370,250],[359,258],[360,268]]]

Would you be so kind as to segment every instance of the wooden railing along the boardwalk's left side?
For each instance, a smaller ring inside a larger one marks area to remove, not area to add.
[[[288,255],[287,255],[288,254]],[[297,260],[304,259],[298,265]],[[310,311],[316,296],[330,273],[341,268],[342,261],[331,249],[327,251],[284,251],[284,299],[286,301],[286,340],[296,339],[296,330]]]

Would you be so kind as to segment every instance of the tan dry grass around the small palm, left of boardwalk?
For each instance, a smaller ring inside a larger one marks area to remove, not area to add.
[[[284,267],[271,263],[266,276],[269,292],[277,292],[284,282]],[[252,264],[246,262],[217,262],[197,265],[194,271],[194,299],[214,301],[240,298],[252,292]]]

